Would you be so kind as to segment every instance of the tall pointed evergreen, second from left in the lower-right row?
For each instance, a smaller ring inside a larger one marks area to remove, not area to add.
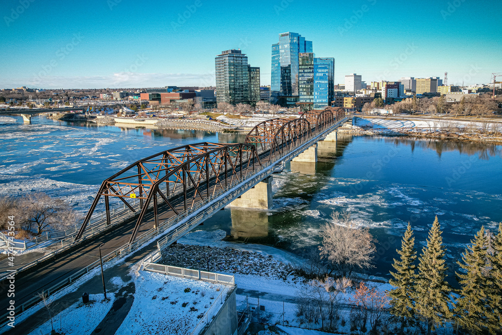
[[[419,257],[415,307],[417,313],[427,319],[427,333],[430,335],[435,323],[451,316],[449,287],[445,281],[445,251],[437,216],[426,241],[427,247],[422,249]]]

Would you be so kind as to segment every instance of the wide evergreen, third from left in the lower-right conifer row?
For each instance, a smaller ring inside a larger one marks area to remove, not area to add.
[[[460,290],[454,311],[462,328],[470,334],[483,334],[489,314],[486,289],[490,286],[486,278],[488,252],[484,227],[481,227],[471,243],[462,254],[462,262],[457,262],[464,271],[456,273]]]

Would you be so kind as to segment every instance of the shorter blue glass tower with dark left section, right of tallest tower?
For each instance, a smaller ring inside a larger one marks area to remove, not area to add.
[[[298,66],[299,102],[302,110],[324,109],[334,100],[335,59],[300,53]]]

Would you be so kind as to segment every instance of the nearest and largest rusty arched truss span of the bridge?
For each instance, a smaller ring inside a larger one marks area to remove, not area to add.
[[[82,237],[101,197],[108,224],[110,197],[117,197],[133,212],[137,208],[131,205],[132,199],[140,200],[140,213],[130,240],[133,242],[151,204],[157,227],[159,197],[166,211],[178,215],[234,180],[245,178],[258,165],[261,163],[256,147],[241,143],[190,144],[139,160],[102,182],[76,238]]]

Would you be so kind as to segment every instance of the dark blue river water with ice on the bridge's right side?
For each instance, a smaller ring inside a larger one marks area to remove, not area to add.
[[[204,229],[217,226],[238,241],[301,254],[317,248],[319,229],[332,211],[348,210],[378,240],[373,274],[388,277],[407,223],[420,251],[438,215],[454,283],[455,262],[476,231],[482,225],[495,231],[502,220],[502,177],[493,173],[502,166],[500,145],[340,135],[336,143],[318,146],[317,163],[291,162],[274,175],[272,209],[226,208],[217,225],[208,220]]]

